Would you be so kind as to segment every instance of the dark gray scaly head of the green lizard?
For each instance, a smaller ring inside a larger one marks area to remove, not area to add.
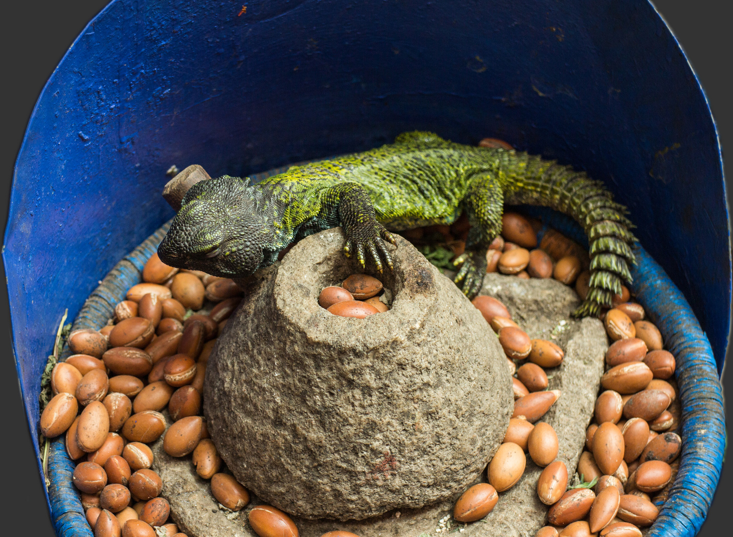
[[[225,176],[192,186],[158,246],[161,261],[224,278],[254,273],[263,253],[248,183]]]

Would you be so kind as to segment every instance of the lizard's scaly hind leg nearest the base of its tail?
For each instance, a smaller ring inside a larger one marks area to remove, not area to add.
[[[460,270],[454,282],[469,299],[478,295],[486,274],[486,251],[491,241],[501,233],[501,212],[504,194],[491,174],[482,174],[471,180],[463,206],[471,223],[465,252],[454,265]],[[461,285],[463,282],[463,285]]]

